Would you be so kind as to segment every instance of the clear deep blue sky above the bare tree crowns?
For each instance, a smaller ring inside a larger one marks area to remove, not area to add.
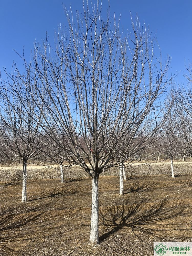
[[[96,2],[96,0],[92,0]],[[13,61],[22,65],[19,56],[25,47],[25,56],[30,55],[34,41],[45,39],[46,31],[50,43],[54,42],[58,24],[66,25],[63,5],[69,9],[70,1],[65,0],[2,0],[0,1],[0,69],[10,70]],[[71,0],[72,11],[82,10],[81,0]],[[108,1],[103,0],[102,10],[108,7]],[[140,22],[150,26],[156,33],[161,48],[162,58],[172,57],[169,72],[180,72],[175,80],[185,81],[185,61],[192,62],[192,1],[173,0],[111,0],[110,13],[116,17],[121,15],[120,26],[124,31],[130,28],[130,11],[133,17],[136,13]]]

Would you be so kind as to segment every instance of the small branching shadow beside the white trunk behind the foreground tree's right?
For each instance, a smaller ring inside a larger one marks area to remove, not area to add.
[[[159,185],[156,182],[147,182],[147,183],[133,183],[124,185],[124,194],[129,194],[132,192],[157,192],[165,191],[166,187],[164,185]]]

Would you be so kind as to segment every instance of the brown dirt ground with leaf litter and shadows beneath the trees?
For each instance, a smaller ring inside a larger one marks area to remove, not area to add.
[[[192,175],[99,178],[99,240],[89,244],[91,179],[0,183],[0,255],[153,255],[154,241],[192,241]]]

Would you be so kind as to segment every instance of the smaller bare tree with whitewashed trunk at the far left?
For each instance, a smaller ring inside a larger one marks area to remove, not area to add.
[[[13,74],[12,74],[13,75]],[[0,127],[2,143],[0,151],[11,161],[23,160],[23,189],[22,202],[27,201],[27,161],[37,159],[41,152],[41,129],[39,123],[34,122],[35,106],[33,102],[25,102],[22,96],[18,97],[22,91],[22,83],[18,77],[12,76],[16,84],[14,90],[2,82],[1,88],[1,112],[0,120],[3,126]],[[17,93],[16,93],[17,92]],[[21,101],[22,100],[22,101]],[[23,103],[25,102],[25,109]],[[41,114],[39,115],[40,118]]]

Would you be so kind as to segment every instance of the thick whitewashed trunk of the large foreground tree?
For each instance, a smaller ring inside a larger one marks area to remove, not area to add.
[[[91,209],[91,235],[92,244],[99,243],[99,194],[98,194],[99,175],[93,174],[92,177],[92,209]]]

